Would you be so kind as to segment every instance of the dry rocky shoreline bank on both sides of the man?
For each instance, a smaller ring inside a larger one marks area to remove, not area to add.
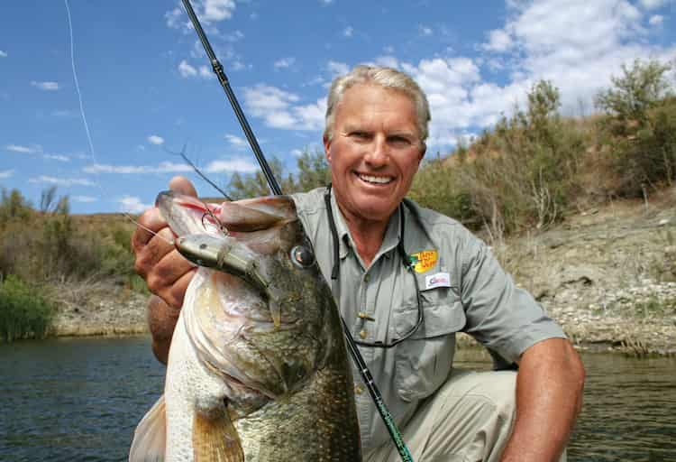
[[[676,187],[582,210],[493,251],[580,349],[676,354]],[[114,284],[64,285],[52,334],[146,333],[146,303]]]

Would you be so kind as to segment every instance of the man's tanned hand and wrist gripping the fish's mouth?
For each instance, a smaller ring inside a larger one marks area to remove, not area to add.
[[[185,177],[171,179],[169,189],[197,196],[192,183]],[[152,351],[160,362],[167,364],[171,335],[187,285],[195,274],[195,266],[183,258],[172,244],[174,235],[159,208],[146,210],[138,223],[132,235],[132,249],[136,255],[134,270],[158,296],[153,296],[149,303],[148,324]]]

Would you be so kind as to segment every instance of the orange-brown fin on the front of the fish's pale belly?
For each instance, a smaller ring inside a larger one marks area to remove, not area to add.
[[[195,462],[244,461],[240,436],[225,410],[211,415],[205,415],[202,412],[195,413],[193,451]]]

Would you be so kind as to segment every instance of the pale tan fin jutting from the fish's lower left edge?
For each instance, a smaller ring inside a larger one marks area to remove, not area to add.
[[[161,462],[167,447],[164,395],[151,407],[133,432],[129,462]]]

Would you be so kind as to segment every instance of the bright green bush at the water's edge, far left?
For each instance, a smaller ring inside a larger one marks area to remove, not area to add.
[[[0,340],[44,337],[54,313],[40,289],[9,275],[0,283]]]

